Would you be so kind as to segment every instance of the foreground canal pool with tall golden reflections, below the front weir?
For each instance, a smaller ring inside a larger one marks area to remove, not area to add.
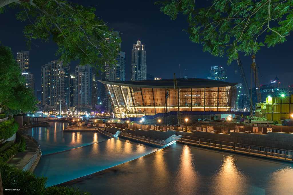
[[[172,144],[66,185],[92,194],[293,194],[292,163]]]

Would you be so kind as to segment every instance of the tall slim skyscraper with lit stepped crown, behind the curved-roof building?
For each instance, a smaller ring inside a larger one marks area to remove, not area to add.
[[[138,40],[131,50],[131,80],[147,80],[147,53]]]

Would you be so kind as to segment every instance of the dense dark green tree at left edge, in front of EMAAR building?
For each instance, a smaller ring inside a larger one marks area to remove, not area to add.
[[[0,107],[8,114],[34,111],[34,92],[24,86],[25,78],[11,49],[0,44],[0,54]]]

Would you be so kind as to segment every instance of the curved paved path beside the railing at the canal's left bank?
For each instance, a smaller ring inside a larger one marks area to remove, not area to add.
[[[18,152],[10,161],[8,161],[9,165],[13,165],[19,169],[23,169],[25,164],[28,163],[38,149],[37,145],[32,140],[23,136],[22,139],[25,139],[27,144],[26,150],[24,152]]]

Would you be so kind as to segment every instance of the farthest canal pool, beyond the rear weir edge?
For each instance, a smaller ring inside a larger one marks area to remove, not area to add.
[[[23,130],[24,133],[33,136],[41,145],[42,155],[86,146],[108,137],[93,132],[63,132],[68,122],[49,122],[50,127],[32,127]]]

